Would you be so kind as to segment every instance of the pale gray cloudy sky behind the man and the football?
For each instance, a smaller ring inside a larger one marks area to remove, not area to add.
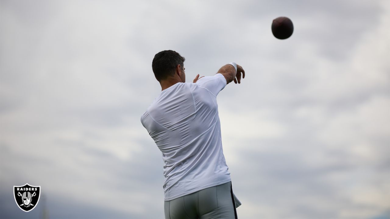
[[[0,217],[163,218],[140,116],[172,49],[187,82],[245,69],[218,95],[239,218],[390,218],[389,26],[386,0],[0,0]]]

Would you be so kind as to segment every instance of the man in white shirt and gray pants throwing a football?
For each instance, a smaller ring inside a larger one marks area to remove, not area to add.
[[[245,72],[232,62],[186,83],[184,61],[172,50],[154,56],[161,93],[141,116],[163,155],[165,218],[237,218],[241,203],[223,155],[216,96],[231,81],[241,83]]]

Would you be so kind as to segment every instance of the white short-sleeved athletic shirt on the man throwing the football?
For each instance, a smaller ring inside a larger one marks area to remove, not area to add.
[[[226,83],[222,74],[176,83],[142,115],[163,155],[165,201],[231,181],[216,101]]]

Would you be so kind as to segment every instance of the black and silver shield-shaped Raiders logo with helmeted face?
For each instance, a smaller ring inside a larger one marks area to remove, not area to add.
[[[37,206],[41,194],[41,186],[21,185],[14,186],[14,197],[18,207],[29,212]]]

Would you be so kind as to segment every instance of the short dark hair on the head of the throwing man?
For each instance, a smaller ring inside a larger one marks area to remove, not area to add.
[[[183,70],[185,60],[176,51],[164,50],[157,53],[152,61],[154,76],[158,81],[167,79],[168,76],[173,76],[177,65],[180,65]]]

